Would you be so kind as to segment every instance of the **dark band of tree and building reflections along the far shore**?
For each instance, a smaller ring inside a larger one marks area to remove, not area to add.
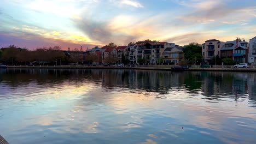
[[[98,69],[8,69],[0,71],[0,82],[11,88],[19,85],[71,85],[85,81],[102,85],[106,89],[123,87],[149,92],[167,93],[172,88],[185,87],[190,92],[203,92],[207,99],[224,97],[256,100],[254,73],[226,73],[208,71],[154,71],[154,70],[98,70]]]

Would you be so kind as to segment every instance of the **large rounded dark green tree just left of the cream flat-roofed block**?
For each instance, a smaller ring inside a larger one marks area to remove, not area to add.
[[[190,43],[183,52],[188,63],[201,62],[202,60],[202,47],[198,43]]]

